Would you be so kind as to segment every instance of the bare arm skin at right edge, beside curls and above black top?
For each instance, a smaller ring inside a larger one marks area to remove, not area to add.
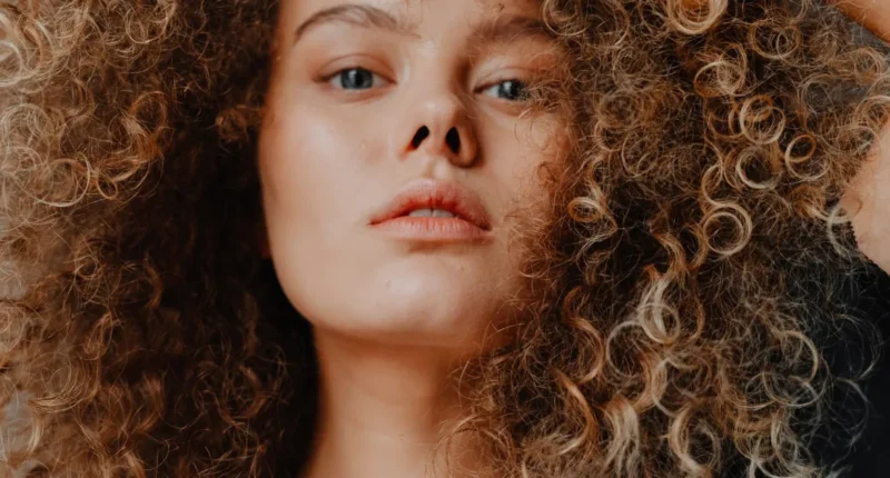
[[[841,207],[852,216],[859,249],[890,273],[890,123],[850,181]]]

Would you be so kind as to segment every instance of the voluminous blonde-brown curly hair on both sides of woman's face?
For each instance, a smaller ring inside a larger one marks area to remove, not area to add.
[[[831,397],[870,364],[828,346],[877,351],[838,299],[864,259],[837,205],[890,118],[887,47],[818,0],[543,10],[572,61],[542,88],[572,126],[520,238],[537,293],[459,371],[446,438],[477,436],[504,477],[828,474]],[[312,337],[257,253],[276,13],[0,2],[4,472],[304,462]]]

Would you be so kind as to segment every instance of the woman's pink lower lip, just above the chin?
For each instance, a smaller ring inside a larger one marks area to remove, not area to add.
[[[402,239],[427,241],[472,241],[491,237],[491,231],[459,218],[403,216],[372,226]]]

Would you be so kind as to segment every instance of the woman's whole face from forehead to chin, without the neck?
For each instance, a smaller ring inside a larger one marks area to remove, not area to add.
[[[276,44],[259,168],[285,293],[316,329],[477,347],[514,318],[512,229],[555,158],[556,118],[521,116],[558,61],[540,6],[284,0]]]

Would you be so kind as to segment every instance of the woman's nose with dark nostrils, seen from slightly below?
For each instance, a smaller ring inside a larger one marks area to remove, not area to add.
[[[473,166],[478,145],[466,106],[456,94],[442,91],[415,101],[408,118],[399,140],[404,156],[424,152],[455,166]]]

